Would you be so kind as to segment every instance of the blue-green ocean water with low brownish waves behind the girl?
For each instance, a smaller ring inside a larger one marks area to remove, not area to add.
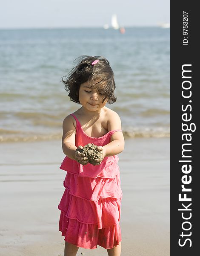
[[[0,141],[62,135],[70,102],[60,82],[80,55],[106,57],[117,102],[107,105],[128,137],[170,136],[170,29],[0,30]]]

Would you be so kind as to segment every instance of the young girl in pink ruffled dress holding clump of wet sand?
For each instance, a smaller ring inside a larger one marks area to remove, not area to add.
[[[82,56],[63,83],[70,99],[81,105],[63,121],[66,157],[60,169],[67,175],[58,209],[65,256],[75,256],[78,247],[95,249],[97,244],[109,256],[120,256],[122,191],[117,154],[124,149],[124,138],[120,117],[106,107],[117,99],[114,74],[106,58]],[[88,143],[97,145],[102,155],[94,164],[80,152]]]

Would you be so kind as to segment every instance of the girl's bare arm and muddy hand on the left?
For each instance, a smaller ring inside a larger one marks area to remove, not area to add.
[[[76,160],[81,164],[88,163],[88,157],[85,157],[85,154],[82,154],[76,151],[77,147],[75,146],[75,136],[76,128],[73,123],[73,117],[71,115],[66,116],[63,121],[63,137],[62,137],[62,148],[64,154],[67,157]]]

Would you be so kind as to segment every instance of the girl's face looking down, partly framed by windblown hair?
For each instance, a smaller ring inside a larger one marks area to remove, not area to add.
[[[80,85],[79,101],[87,111],[94,112],[103,108],[107,103],[107,100],[103,102],[104,97],[105,95],[100,94],[98,88],[91,88],[88,81]]]

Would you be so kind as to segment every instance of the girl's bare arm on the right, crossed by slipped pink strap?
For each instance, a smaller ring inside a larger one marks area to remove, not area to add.
[[[111,111],[108,119],[108,131],[121,130],[121,120],[117,113]],[[116,131],[111,136],[111,142],[103,146],[103,157],[110,157],[124,150],[124,137],[121,131]]]

